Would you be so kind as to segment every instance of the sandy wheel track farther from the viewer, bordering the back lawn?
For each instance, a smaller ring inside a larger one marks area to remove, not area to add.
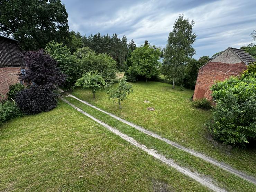
[[[67,97],[73,97],[74,99],[76,99],[76,100],[78,100],[78,101],[80,101],[80,102],[82,102],[82,103],[84,103],[84,104],[86,104],[86,105],[88,105],[88,106],[90,106],[90,107],[92,107],[94,109],[97,109],[97,110],[99,110],[99,111],[101,111],[103,113],[106,113],[107,115],[109,115],[109,116],[111,116],[111,117],[113,117],[113,118],[115,118],[115,119],[117,119],[117,120],[119,120],[119,121],[121,121],[121,122],[123,122],[123,123],[125,123],[125,124],[127,124],[129,126],[131,126],[131,127],[134,127],[135,129],[137,129],[137,130],[139,130],[139,131],[141,131],[141,132],[143,132],[143,133],[145,133],[147,135],[150,135],[152,137],[155,137],[157,139],[165,141],[166,143],[168,143],[168,144],[170,144],[170,145],[172,145],[172,146],[174,146],[174,147],[176,147],[178,149],[181,149],[181,150],[183,150],[183,151],[185,151],[187,153],[190,153],[193,156],[199,157],[199,158],[203,159],[204,161],[207,161],[207,162],[209,162],[209,163],[211,163],[213,165],[216,165],[216,166],[222,168],[223,170],[226,170],[226,171],[228,171],[228,172],[230,172],[232,174],[235,174],[235,175],[237,175],[237,176],[239,176],[239,177],[241,177],[241,178],[243,178],[243,179],[245,179],[245,180],[247,180],[249,182],[252,182],[252,183],[256,184],[256,179],[254,177],[249,176],[249,175],[247,175],[247,174],[245,174],[245,173],[243,173],[241,171],[238,171],[238,170],[232,168],[231,166],[227,165],[226,163],[219,162],[219,161],[217,161],[217,160],[215,160],[215,159],[213,159],[211,157],[207,157],[207,156],[205,156],[205,155],[203,155],[201,153],[198,153],[198,152],[195,152],[195,151],[190,150],[188,148],[185,148],[185,147],[183,147],[183,146],[181,146],[181,145],[179,145],[179,144],[177,144],[177,143],[175,143],[173,141],[170,141],[170,140],[168,140],[168,139],[166,139],[164,137],[161,137],[161,136],[155,134],[152,131],[146,130],[143,127],[140,127],[140,126],[137,126],[137,125],[133,124],[132,122],[126,121],[126,120],[124,120],[124,119],[122,119],[120,117],[117,117],[117,116],[113,115],[112,113],[109,113],[109,112],[104,111],[104,110],[102,110],[102,109],[100,109],[98,107],[95,107],[92,104],[90,104],[90,103],[88,103],[88,102],[86,102],[84,100],[81,100],[81,99],[75,97],[74,95],[68,95]]]

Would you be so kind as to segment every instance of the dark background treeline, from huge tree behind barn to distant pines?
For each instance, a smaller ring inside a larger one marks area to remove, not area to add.
[[[0,1],[0,13],[0,32],[19,40],[24,51],[45,49],[54,40],[67,46],[72,54],[82,47],[107,54],[117,62],[119,71],[125,69],[129,52],[127,38],[100,33],[86,37],[70,31],[66,8],[61,0],[3,0]],[[131,43],[135,45],[133,40]]]

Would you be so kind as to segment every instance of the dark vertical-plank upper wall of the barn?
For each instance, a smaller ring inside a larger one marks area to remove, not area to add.
[[[0,37],[0,67],[24,66],[20,53],[21,49],[16,41]]]

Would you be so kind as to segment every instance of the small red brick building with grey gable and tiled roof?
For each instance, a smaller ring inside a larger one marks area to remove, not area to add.
[[[247,65],[256,60],[244,50],[228,47],[225,51],[210,58],[199,68],[193,100],[212,100],[210,87],[215,81],[223,81],[230,76],[240,75]]]

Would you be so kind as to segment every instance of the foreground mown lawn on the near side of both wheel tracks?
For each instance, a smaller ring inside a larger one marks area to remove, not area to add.
[[[0,191],[209,191],[66,103],[0,126]]]

